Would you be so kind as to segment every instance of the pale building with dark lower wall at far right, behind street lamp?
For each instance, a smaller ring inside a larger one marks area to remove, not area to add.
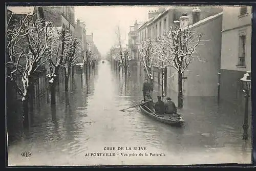
[[[251,7],[223,7],[220,97],[239,103],[240,78],[251,70]]]

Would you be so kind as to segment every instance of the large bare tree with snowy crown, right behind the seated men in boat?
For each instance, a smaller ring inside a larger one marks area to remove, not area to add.
[[[163,62],[168,62],[178,72],[178,106],[183,107],[183,72],[194,60],[196,47],[200,45],[202,34],[192,30],[189,26],[185,28],[170,27],[160,39],[162,45],[166,45],[168,56],[163,55]]]

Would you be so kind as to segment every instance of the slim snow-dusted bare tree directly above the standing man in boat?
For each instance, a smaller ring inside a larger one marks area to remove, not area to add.
[[[151,39],[147,39],[146,41],[141,41],[138,46],[140,57],[143,62],[143,67],[146,72],[148,79],[151,80],[153,84],[153,42]]]

